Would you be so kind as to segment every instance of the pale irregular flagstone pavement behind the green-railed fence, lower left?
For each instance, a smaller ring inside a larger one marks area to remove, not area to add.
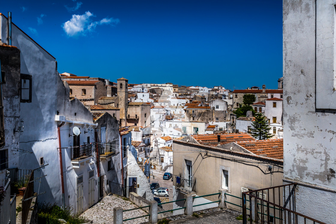
[[[127,198],[125,198],[127,199]],[[97,204],[86,210],[81,217],[85,219],[92,220],[93,223],[105,223],[105,224],[113,224],[113,208],[115,207],[122,207],[124,210],[137,208],[136,205],[132,204],[131,201],[124,200],[123,197],[117,197],[116,195],[109,194],[103,199],[101,199]],[[123,219],[129,219],[136,216],[143,216],[147,215],[141,209],[136,209],[132,211],[127,211],[123,213]],[[138,219],[132,219],[129,221],[125,221],[123,223],[127,224],[138,224],[148,222],[148,217],[142,217]]]

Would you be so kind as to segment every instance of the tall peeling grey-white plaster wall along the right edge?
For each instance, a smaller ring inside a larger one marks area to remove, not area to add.
[[[334,13],[333,1],[317,0],[317,4],[332,8],[321,12],[318,17],[330,18],[329,14],[323,13]],[[315,94],[315,13],[315,1],[283,2],[284,178],[330,189],[324,191],[299,186],[296,211],[332,223],[330,220],[336,218],[332,212],[336,205],[326,206],[325,202],[335,196],[333,190],[336,190],[336,110],[316,109],[316,101],[328,103],[328,100],[316,98]],[[318,33],[334,31],[330,26],[322,27]],[[317,36],[317,55],[325,50],[319,45],[324,41],[320,38],[325,37]],[[322,63],[326,69],[332,70],[327,64],[333,63],[333,51],[325,53],[328,56]],[[317,68],[321,67],[319,62],[317,64]],[[317,80],[328,79],[327,76],[328,72],[322,73]],[[321,87],[317,88],[317,91],[323,91]],[[315,212],[317,208],[319,213]]]

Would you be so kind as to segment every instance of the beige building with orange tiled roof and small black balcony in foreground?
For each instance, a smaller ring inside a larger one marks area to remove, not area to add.
[[[173,157],[173,200],[183,199],[185,194],[218,193],[219,189],[241,197],[242,191],[282,184],[283,140],[259,141],[241,133],[186,136],[173,140]],[[264,197],[273,196],[269,193]],[[201,197],[194,200],[194,205],[216,200],[218,195]],[[241,211],[237,206],[241,205],[241,199],[226,195],[226,201],[227,208]],[[179,207],[183,207],[183,201],[173,206]]]

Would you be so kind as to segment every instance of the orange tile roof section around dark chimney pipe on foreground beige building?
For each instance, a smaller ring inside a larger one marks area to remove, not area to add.
[[[211,134],[211,135],[193,135],[193,138],[195,138],[196,141],[201,143],[202,145],[209,145],[216,147],[218,145],[218,139],[217,134]],[[242,133],[231,133],[231,134],[220,134],[220,144],[224,145],[227,143],[235,142],[235,141],[253,141],[255,138],[253,138],[249,134],[242,134]]]

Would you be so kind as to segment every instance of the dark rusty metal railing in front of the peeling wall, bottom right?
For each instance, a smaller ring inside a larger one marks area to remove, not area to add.
[[[296,212],[296,185],[291,183],[242,192],[243,224],[325,224]]]

